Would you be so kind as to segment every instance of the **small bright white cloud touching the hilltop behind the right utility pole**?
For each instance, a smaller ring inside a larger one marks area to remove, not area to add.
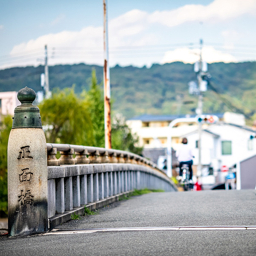
[[[184,63],[195,63],[199,60],[199,49],[189,49],[189,48],[177,48],[173,51],[168,51],[165,53],[162,64],[170,63],[174,61],[182,61]],[[204,47],[202,50],[202,58],[207,63],[213,62],[237,62],[237,59],[231,54],[223,53],[221,51],[215,50],[213,47]]]

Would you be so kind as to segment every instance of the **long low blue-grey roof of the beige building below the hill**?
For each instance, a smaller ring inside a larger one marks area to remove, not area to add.
[[[206,114],[208,115],[208,114]],[[218,118],[222,118],[224,113],[210,113],[209,115],[218,116]],[[196,115],[149,115],[143,114],[140,116],[134,116],[128,120],[141,120],[142,122],[157,122],[157,121],[172,121],[177,118],[184,118],[184,117],[195,117]]]

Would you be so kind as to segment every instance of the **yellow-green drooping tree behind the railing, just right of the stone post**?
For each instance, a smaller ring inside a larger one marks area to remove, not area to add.
[[[93,125],[89,105],[72,88],[56,90],[39,106],[49,143],[93,145]]]

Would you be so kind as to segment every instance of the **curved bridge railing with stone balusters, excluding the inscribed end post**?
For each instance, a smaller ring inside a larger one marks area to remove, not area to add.
[[[50,229],[134,189],[176,190],[155,163],[127,151],[47,143],[47,152]]]

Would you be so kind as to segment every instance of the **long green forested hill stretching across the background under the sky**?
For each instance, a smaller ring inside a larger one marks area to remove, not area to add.
[[[71,87],[77,93],[90,86],[92,70],[102,82],[103,69],[95,65],[57,65],[49,67],[50,89]],[[204,94],[204,112],[236,111],[256,119],[256,62],[213,63],[208,65],[212,78]],[[18,91],[28,86],[41,90],[44,67],[15,67],[0,70],[0,91]],[[196,80],[192,64],[174,62],[152,67],[111,68],[112,109],[131,118],[143,113],[195,113],[197,96],[188,93],[188,82]]]

